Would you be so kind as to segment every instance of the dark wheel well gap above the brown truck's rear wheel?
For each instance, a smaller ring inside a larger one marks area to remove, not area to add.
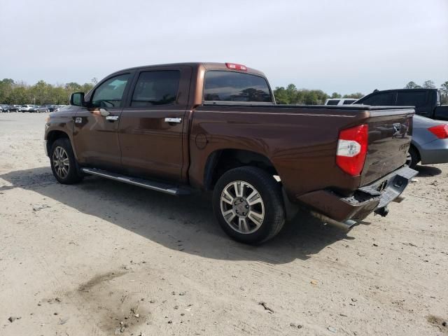
[[[225,172],[237,167],[258,167],[271,175],[279,175],[265,155],[241,149],[223,149],[209,155],[204,169],[204,188],[213,190]]]

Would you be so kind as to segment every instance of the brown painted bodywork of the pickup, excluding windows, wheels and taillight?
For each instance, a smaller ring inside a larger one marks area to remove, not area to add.
[[[161,69],[181,71],[176,102],[146,108],[130,106],[139,73]],[[85,107],[52,113],[45,139],[52,130],[63,130],[80,165],[200,189],[204,188],[210,155],[225,149],[251,151],[272,162],[291,202],[308,204],[337,220],[358,209],[343,204],[341,212],[339,197],[323,190],[346,197],[405,163],[412,109],[204,104],[204,73],[210,69],[230,71],[225,64],[188,63],[113,73],[104,80],[131,73],[123,107],[108,109],[111,116],[119,117],[118,121],[109,122],[97,109]],[[254,69],[247,73],[264,77]],[[90,101],[94,90],[86,94],[85,102]],[[75,118],[82,118],[82,123],[73,123]],[[165,118],[181,118],[182,122],[169,124]],[[402,137],[393,137],[393,125],[397,123],[407,125]],[[335,164],[337,138],[340,130],[360,124],[369,126],[367,159],[362,174],[350,176]]]

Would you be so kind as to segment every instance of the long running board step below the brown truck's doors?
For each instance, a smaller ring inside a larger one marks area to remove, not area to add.
[[[139,186],[146,189],[160,191],[160,193],[165,193],[169,195],[188,195],[190,194],[190,190],[186,188],[181,188],[179,186],[174,186],[171,184],[149,181],[146,179],[139,179],[137,177],[130,177],[125,175],[120,175],[112,172],[107,172],[102,169],[95,168],[81,168],[81,172],[85,174],[91,174],[96,176],[101,176],[106,179],[111,179],[113,181],[123,182],[127,184],[132,184],[133,186]]]

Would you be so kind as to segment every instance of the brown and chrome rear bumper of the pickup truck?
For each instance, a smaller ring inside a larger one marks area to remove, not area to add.
[[[331,190],[316,190],[300,196],[299,200],[323,221],[349,227],[395,200],[416,174],[406,166],[358,188],[351,197],[341,197]]]

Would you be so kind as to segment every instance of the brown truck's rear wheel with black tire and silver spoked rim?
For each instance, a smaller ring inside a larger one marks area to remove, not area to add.
[[[239,167],[221,176],[214,188],[213,207],[225,233],[245,244],[272,239],[285,223],[281,187],[257,167]]]

